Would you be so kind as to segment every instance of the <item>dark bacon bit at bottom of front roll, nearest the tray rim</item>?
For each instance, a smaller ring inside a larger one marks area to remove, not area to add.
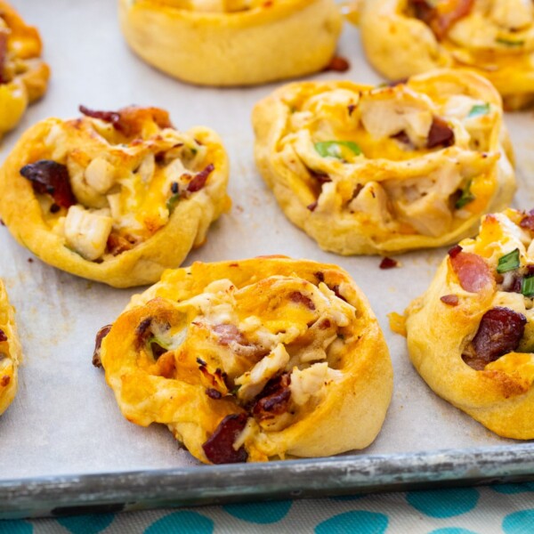
[[[202,445],[206,458],[212,464],[237,464],[247,461],[247,450],[233,448],[234,442],[247,425],[247,414],[232,414],[224,417],[215,432]]]

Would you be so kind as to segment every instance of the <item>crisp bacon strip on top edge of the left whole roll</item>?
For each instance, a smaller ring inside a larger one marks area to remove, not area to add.
[[[130,106],[118,111],[95,111],[80,106],[79,110],[86,117],[100,118],[111,123],[117,131],[125,134],[126,137],[135,137],[141,134],[143,123],[147,120],[154,121],[162,129],[173,127],[169,114],[164,109],[159,108]]]

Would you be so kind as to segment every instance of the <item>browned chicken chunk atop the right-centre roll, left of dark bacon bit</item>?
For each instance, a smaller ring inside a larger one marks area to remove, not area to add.
[[[373,137],[391,137],[405,132],[417,147],[426,145],[433,122],[428,104],[406,92],[362,97],[360,115],[362,124]]]

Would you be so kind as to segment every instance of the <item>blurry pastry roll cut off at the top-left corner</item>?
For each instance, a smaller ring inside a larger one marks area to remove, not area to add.
[[[50,71],[41,49],[36,28],[0,0],[0,136],[18,125],[28,104],[46,92]]]

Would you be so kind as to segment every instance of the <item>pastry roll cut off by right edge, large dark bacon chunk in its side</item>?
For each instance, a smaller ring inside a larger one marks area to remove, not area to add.
[[[446,401],[506,438],[534,438],[534,212],[483,217],[405,312],[409,357]]]

